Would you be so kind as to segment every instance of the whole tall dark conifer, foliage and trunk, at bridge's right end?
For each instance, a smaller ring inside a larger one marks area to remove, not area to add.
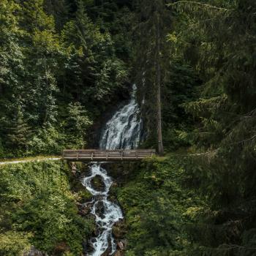
[[[148,109],[151,111],[148,113],[148,119],[157,116],[157,145],[159,154],[163,154],[161,91],[167,69],[165,65],[165,57],[168,56],[167,25],[170,26],[170,13],[165,5],[165,0],[140,1],[138,18],[136,31],[138,45],[135,60],[135,66],[140,69],[138,84],[140,91],[144,94],[143,98],[146,98],[146,102],[151,102],[146,103],[145,106],[145,108],[149,107]],[[153,98],[152,95],[154,95]],[[148,121],[149,123],[152,124],[152,121]],[[154,130],[152,126],[149,129]]]

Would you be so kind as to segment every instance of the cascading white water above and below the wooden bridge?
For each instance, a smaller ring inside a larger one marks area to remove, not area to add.
[[[140,142],[140,133],[142,121],[138,118],[139,108],[135,100],[136,86],[133,86],[132,99],[123,108],[118,110],[110,121],[105,125],[99,140],[99,146],[102,149],[129,149],[136,148]],[[108,200],[112,179],[107,171],[102,168],[102,163],[91,163],[91,175],[83,178],[83,185],[94,195],[94,200],[89,202],[91,205],[91,214],[94,215],[99,236],[91,241],[94,248],[89,256],[100,256],[109,247],[112,255],[116,251],[116,243],[112,235],[112,227],[119,220],[123,219],[121,208],[116,203]],[[91,184],[95,176],[100,176],[105,184],[104,191],[97,191]],[[102,208],[103,211],[99,211]]]

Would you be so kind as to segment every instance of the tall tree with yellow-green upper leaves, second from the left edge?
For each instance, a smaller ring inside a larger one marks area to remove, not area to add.
[[[52,15],[44,10],[44,1],[22,3],[21,25],[26,31],[26,110],[35,125],[52,124],[56,118],[56,77],[63,55]],[[24,86],[25,87],[25,86]],[[35,102],[34,99],[37,99]]]

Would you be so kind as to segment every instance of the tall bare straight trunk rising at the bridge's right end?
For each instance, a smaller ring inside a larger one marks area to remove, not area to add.
[[[161,102],[161,67],[160,67],[160,24],[159,13],[157,13],[157,137],[158,137],[158,153],[164,154],[164,146],[162,144],[162,102]]]

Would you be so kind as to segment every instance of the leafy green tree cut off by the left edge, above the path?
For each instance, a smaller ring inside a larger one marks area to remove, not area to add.
[[[9,140],[9,124],[23,86],[24,55],[19,44],[23,31],[18,27],[19,10],[15,1],[0,1],[0,132],[3,146]]]

